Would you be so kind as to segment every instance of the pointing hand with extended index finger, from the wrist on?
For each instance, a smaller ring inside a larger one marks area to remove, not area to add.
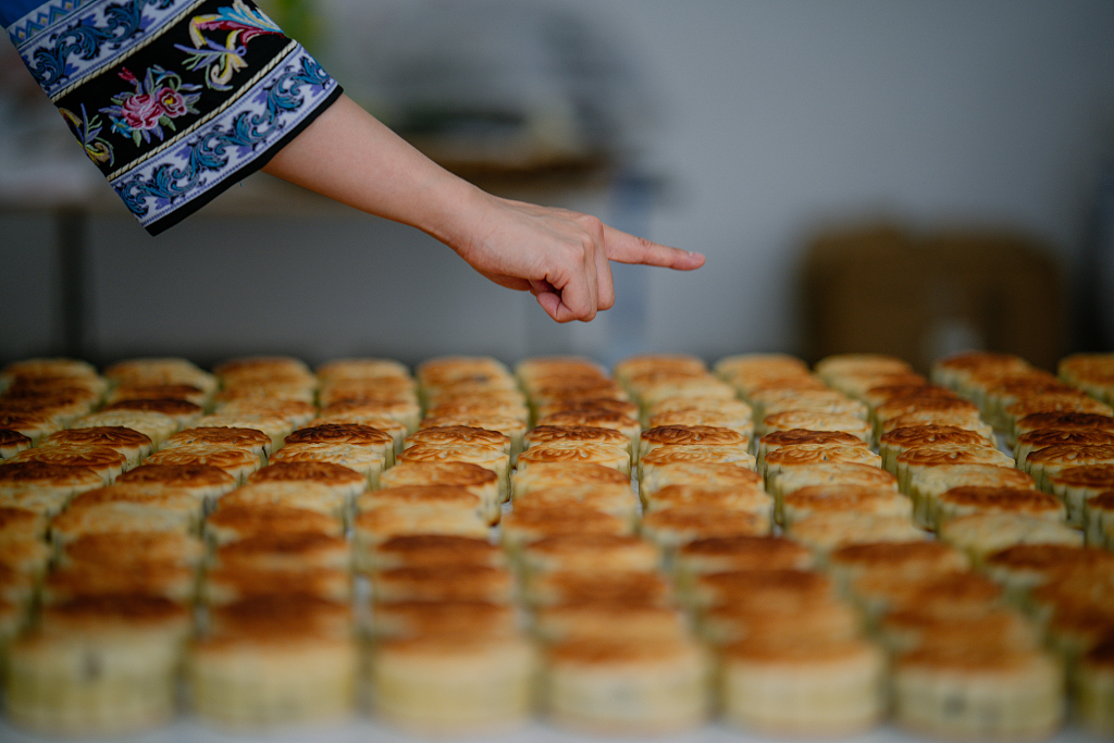
[[[457,253],[500,286],[528,291],[557,322],[615,304],[610,261],[680,271],[704,256],[608,227],[596,217],[482,194],[479,222]]]

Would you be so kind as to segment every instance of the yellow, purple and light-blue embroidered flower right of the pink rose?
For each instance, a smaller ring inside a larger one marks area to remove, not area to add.
[[[227,31],[224,43],[208,39],[204,31]],[[197,16],[189,21],[189,40],[194,48],[175,45],[189,52],[186,67],[190,70],[205,69],[205,84],[215,90],[228,90],[232,76],[247,67],[244,55],[247,42],[263,33],[282,31],[270,18],[258,10],[235,0],[231,8],[221,8],[209,16]]]

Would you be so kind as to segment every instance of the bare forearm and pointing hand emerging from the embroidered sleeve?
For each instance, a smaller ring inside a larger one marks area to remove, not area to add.
[[[346,96],[263,168],[375,216],[417,227],[483,276],[528,291],[557,322],[615,302],[610,261],[698,268],[704,256],[599,219],[488,194],[440,167]]]

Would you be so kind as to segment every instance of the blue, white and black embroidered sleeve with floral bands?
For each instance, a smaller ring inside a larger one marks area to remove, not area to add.
[[[263,167],[341,92],[250,0],[0,0],[0,20],[153,235]]]

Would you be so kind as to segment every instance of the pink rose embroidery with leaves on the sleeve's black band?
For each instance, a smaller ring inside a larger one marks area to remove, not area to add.
[[[154,134],[160,140],[165,138],[163,127],[175,131],[173,119],[186,114],[196,114],[194,104],[201,98],[199,85],[183,82],[174,72],[162,67],[152,67],[140,82],[128,68],[124,67],[120,77],[135,85],[135,92],[125,91],[111,98],[114,106],[101,108],[113,121],[113,131],[149,143]]]

